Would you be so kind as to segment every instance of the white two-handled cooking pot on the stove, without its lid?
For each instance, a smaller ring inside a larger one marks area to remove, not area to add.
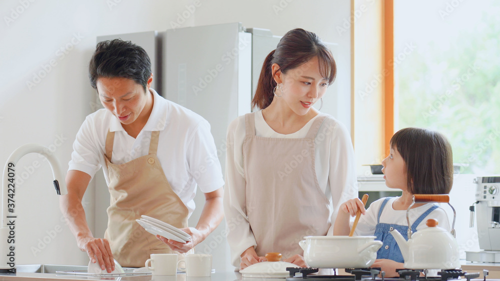
[[[304,260],[312,268],[367,268],[376,259],[382,246],[374,236],[306,236],[298,244]]]

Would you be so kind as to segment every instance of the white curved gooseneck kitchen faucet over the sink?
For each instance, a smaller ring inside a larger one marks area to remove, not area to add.
[[[3,168],[1,228],[0,228],[0,271],[15,272],[15,172],[17,161],[28,153],[41,154],[48,160],[54,187],[58,195],[67,194],[66,183],[57,159],[46,153],[48,149],[42,145],[29,143],[14,150]]]

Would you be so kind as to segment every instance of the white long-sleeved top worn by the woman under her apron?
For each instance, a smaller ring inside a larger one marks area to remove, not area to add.
[[[255,112],[254,116],[255,135],[266,138],[303,138],[317,117],[309,120],[297,132],[283,135],[276,133],[267,125],[261,111]],[[235,267],[239,266],[240,255],[249,247],[256,246],[245,210],[246,183],[243,177],[242,155],[244,137],[245,118],[239,116],[227,129],[224,190],[227,242],[231,248],[231,264]],[[330,218],[333,226],[339,205],[348,199],[358,197],[354,150],[347,129],[332,117],[326,118],[321,124],[315,138],[315,146],[316,176],[321,191],[330,199],[333,210]],[[332,232],[333,228],[330,227],[327,235],[332,235]]]

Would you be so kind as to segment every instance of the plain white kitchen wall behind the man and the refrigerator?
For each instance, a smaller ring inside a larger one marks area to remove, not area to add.
[[[98,35],[161,31],[172,23],[241,21],[275,35],[302,27],[338,43],[337,80],[343,81],[338,93],[350,99],[350,30],[336,28],[348,19],[349,0],[200,0],[190,12],[192,7],[192,0],[0,1],[0,162],[18,146],[34,142],[53,150],[67,169],[74,136],[96,106],[87,66]],[[350,116],[350,108],[343,114]],[[86,265],[86,254],[61,221],[48,164],[27,155],[17,164],[17,178],[22,183],[15,195],[16,263]],[[93,189],[91,183],[84,198],[91,229]]]

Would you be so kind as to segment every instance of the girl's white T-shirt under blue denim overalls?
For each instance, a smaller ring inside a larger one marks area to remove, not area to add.
[[[402,226],[408,225],[406,221],[406,210],[394,210],[392,208],[392,203],[397,198],[398,197],[394,197],[387,201],[387,204],[385,204],[385,207],[382,210],[382,214],[380,214],[380,223],[396,224]],[[384,199],[385,198],[381,198],[371,203],[368,209],[366,209],[366,215],[359,217],[356,229],[354,230],[354,235],[372,236],[375,233],[378,210],[380,210],[380,205],[382,205]],[[416,219],[418,219],[418,217],[420,217],[421,214],[427,211],[433,204],[434,203],[427,203],[425,205],[410,209],[408,214],[409,223],[413,225]],[[426,228],[427,226],[425,225],[425,222],[428,219],[435,219],[437,220],[438,227],[443,228],[447,231],[451,230],[448,216],[443,208],[436,208],[434,211],[430,212],[427,217],[425,217],[425,219],[423,219],[418,224],[416,230],[418,231],[422,228]]]

